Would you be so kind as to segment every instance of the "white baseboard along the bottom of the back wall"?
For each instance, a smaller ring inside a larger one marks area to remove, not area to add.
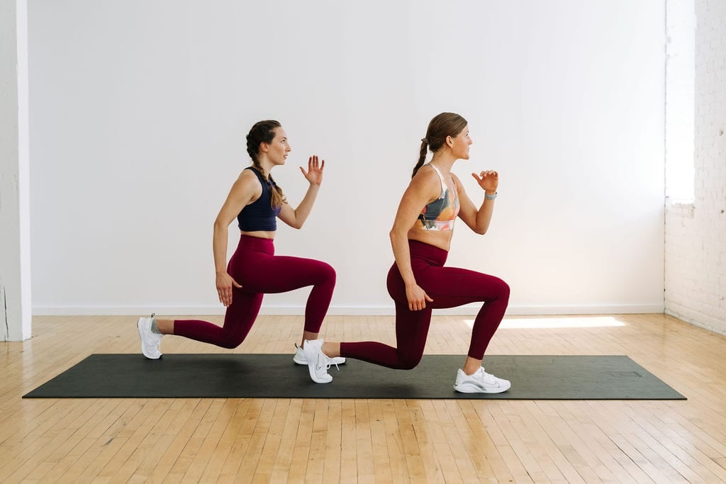
[[[459,308],[437,309],[434,314],[475,316],[481,305],[463,305]],[[263,306],[261,315],[302,315],[302,306]],[[569,314],[641,314],[663,313],[662,304],[611,304],[611,305],[510,305],[506,316],[552,316]],[[222,306],[170,306],[170,307],[105,307],[105,306],[36,306],[33,316],[143,316],[156,313],[169,316],[213,316],[224,314]],[[393,316],[391,306],[332,306],[330,316]]]

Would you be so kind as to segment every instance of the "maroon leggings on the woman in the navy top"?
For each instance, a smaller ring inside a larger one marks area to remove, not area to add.
[[[257,318],[262,296],[313,286],[305,307],[305,330],[317,333],[335,287],[335,270],[325,262],[274,255],[272,239],[242,235],[227,272],[242,289],[232,287],[232,304],[219,327],[198,319],[174,320],[174,335],[222,348],[237,348]]]

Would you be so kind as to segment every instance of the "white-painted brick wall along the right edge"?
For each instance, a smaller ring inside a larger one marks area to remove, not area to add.
[[[726,334],[724,0],[696,0],[695,65],[694,202],[666,204],[665,311]]]

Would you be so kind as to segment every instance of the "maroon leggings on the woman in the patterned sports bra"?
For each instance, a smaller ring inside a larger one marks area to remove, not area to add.
[[[417,284],[433,299],[421,311],[409,311],[406,285],[393,263],[388,271],[388,294],[396,303],[396,345],[383,343],[340,343],[340,356],[368,361],[393,369],[412,369],[423,356],[433,308],[454,308],[484,301],[471,332],[468,356],[481,360],[509,303],[509,286],[498,277],[467,269],[444,267],[448,252],[439,247],[409,240],[411,267]]]

